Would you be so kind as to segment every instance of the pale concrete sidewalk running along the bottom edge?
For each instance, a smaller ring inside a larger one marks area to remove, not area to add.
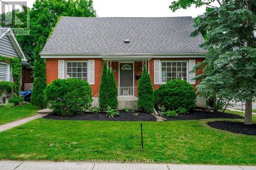
[[[255,170],[256,166],[0,161],[1,170]]]

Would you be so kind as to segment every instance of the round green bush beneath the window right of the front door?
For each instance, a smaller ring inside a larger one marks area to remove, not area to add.
[[[154,94],[155,105],[164,106],[167,110],[180,107],[191,110],[196,106],[195,88],[185,80],[168,81],[155,90]]]

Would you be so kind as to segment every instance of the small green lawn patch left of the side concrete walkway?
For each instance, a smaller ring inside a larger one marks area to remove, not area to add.
[[[31,104],[14,106],[11,108],[0,108],[0,125],[13,122],[14,120],[29,117],[36,114],[38,107]]]

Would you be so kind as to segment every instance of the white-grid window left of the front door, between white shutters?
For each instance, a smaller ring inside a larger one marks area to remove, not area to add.
[[[77,78],[87,81],[87,61],[66,63],[66,79]]]

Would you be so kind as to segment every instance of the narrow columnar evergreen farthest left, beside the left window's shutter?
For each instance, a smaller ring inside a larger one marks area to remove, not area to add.
[[[108,67],[106,62],[103,63],[103,69],[101,74],[101,81],[99,86],[99,107],[101,111],[105,111],[109,105],[109,75],[108,75]]]

